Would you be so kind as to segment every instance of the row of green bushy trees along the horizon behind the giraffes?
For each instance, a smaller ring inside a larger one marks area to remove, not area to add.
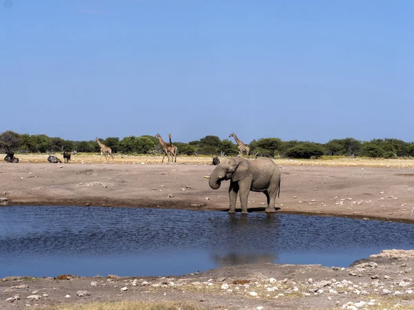
[[[101,138],[113,153],[161,154],[162,147],[154,136],[126,136]],[[168,137],[164,138],[168,142]],[[235,156],[237,145],[229,139],[205,136],[190,143],[174,142],[179,155]],[[408,158],[414,156],[414,143],[395,138],[358,141],[355,138],[333,139],[328,143],[309,141],[282,141],[279,138],[259,138],[249,144],[250,156],[272,158],[320,158],[321,156],[364,156],[369,158]],[[2,152],[10,149],[19,153],[55,153],[61,151],[99,152],[95,141],[70,141],[45,134],[18,134],[7,131],[0,134]]]

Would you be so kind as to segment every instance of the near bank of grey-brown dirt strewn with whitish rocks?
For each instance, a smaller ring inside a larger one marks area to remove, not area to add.
[[[414,309],[414,250],[384,250],[348,268],[237,265],[176,277],[8,277],[0,309],[119,300],[188,301],[200,309]]]

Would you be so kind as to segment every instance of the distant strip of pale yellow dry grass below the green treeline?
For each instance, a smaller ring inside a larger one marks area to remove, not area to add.
[[[2,155],[4,156],[4,155]],[[21,163],[48,163],[49,154],[16,154]],[[63,162],[60,153],[55,154]],[[148,155],[121,155],[115,154],[114,160],[108,157],[108,161],[100,153],[78,153],[72,155],[70,163],[124,163],[124,164],[159,164],[162,156]],[[177,164],[210,165],[213,161],[212,156],[178,156]],[[167,158],[164,158],[167,163]],[[370,158],[331,158],[326,156],[322,159],[275,159],[277,165],[315,165],[315,166],[334,166],[334,167],[410,167],[414,168],[413,159],[370,159]]]

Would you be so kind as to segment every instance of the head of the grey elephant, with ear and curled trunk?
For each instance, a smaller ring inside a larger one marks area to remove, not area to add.
[[[250,163],[244,158],[223,158],[208,179],[212,189],[218,189],[222,180],[237,182],[251,174]]]

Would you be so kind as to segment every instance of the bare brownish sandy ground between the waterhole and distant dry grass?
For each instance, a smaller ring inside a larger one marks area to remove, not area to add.
[[[18,164],[0,163],[0,195],[8,198],[3,200],[8,205],[226,210],[228,182],[210,189],[205,176],[215,166],[209,161],[160,165],[144,158],[99,163],[78,157],[75,163],[50,164],[23,159]],[[276,162],[282,172],[279,213],[414,222],[414,168],[406,163],[379,168],[358,161],[349,161],[349,166]],[[251,211],[262,211],[265,203],[264,194],[250,193]]]

